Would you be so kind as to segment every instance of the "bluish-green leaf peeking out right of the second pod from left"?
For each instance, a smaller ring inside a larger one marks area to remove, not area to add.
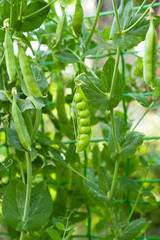
[[[38,83],[38,86],[41,90],[41,93],[43,95],[46,95],[48,92],[48,82],[47,79],[44,75],[44,72],[40,67],[37,67],[36,65],[32,65],[32,71],[33,75],[36,79],[36,82]]]

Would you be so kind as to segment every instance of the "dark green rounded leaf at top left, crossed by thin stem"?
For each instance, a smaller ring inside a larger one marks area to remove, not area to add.
[[[50,8],[45,6],[47,5],[44,1],[36,1],[31,2],[25,11],[24,17],[31,15],[32,13],[35,13],[43,8],[43,10],[39,11],[36,14],[33,14],[30,17],[27,17],[23,20],[22,23],[17,22],[16,24],[16,30],[22,31],[22,32],[29,32],[33,31],[36,28],[39,28],[43,21],[45,20]]]

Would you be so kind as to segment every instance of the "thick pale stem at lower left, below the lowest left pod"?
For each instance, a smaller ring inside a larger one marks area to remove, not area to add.
[[[30,200],[31,200],[31,188],[32,188],[32,162],[30,158],[30,153],[25,152],[25,156],[26,156],[26,163],[27,163],[27,188],[26,188],[24,213],[22,217],[23,222],[26,222],[28,217]],[[24,231],[22,231],[20,234],[20,240],[24,240]]]

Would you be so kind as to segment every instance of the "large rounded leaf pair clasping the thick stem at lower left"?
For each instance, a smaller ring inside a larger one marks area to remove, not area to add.
[[[32,189],[31,205],[26,222],[22,221],[26,197],[26,186],[15,179],[6,187],[2,211],[6,223],[17,231],[35,231],[41,228],[52,212],[52,199],[44,183]]]

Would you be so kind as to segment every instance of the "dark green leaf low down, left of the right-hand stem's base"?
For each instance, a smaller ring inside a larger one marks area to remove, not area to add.
[[[114,205],[112,200],[106,197],[106,194],[99,188],[99,186],[90,181],[83,182],[87,195],[101,207],[111,207]]]

